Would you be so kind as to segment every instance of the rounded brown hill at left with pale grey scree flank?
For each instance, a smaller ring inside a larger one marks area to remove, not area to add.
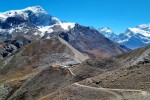
[[[23,84],[25,84],[24,82],[28,83],[27,80],[28,79],[30,80],[32,76],[40,78],[41,75],[43,76],[44,74],[46,74],[46,76],[51,79],[50,76],[52,77],[58,76],[57,72],[60,72],[60,79],[62,79],[63,77],[62,75],[63,74],[65,75],[65,73],[67,75],[65,76],[68,77],[69,71],[67,72],[67,69],[65,70],[61,68],[60,71],[58,71],[59,68],[57,69],[57,67],[58,66],[68,67],[71,66],[72,64],[81,63],[86,59],[88,59],[87,55],[82,54],[79,51],[75,50],[64,40],[61,40],[59,38],[54,40],[33,41],[31,44],[25,46],[24,48],[16,52],[14,55],[6,57],[0,62],[0,84],[1,84],[0,100],[8,99],[9,96],[11,96],[12,93],[14,93],[16,90],[19,91],[18,88],[21,88],[20,86],[23,86]],[[46,68],[50,68],[51,71],[48,72],[50,73],[50,75],[45,73],[46,70],[44,71],[44,69]],[[54,75],[51,75],[53,74],[52,72],[54,73]],[[41,73],[41,75],[38,73]],[[57,80],[58,78],[54,79]],[[64,77],[64,80],[65,79],[67,78]],[[42,77],[41,81],[45,82],[44,80]],[[55,82],[55,80],[53,81]],[[59,80],[58,83],[60,83],[60,81],[61,80]],[[27,86],[29,86],[30,83],[32,82],[29,82]],[[39,86],[39,84],[41,84],[41,87]],[[37,85],[35,85],[35,87],[33,88],[39,87],[40,89],[44,86],[44,84],[45,85],[49,84],[49,82],[48,83],[37,82]],[[33,85],[31,84],[31,86]],[[35,90],[35,92],[37,91],[38,89]],[[26,89],[24,92],[26,92]],[[33,91],[31,92],[33,93]],[[21,97],[19,97],[19,99],[21,99]]]

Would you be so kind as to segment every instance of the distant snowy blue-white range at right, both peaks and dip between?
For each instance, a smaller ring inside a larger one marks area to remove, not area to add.
[[[108,27],[99,28],[98,30],[110,40],[131,49],[150,45],[150,24],[142,24],[134,28],[128,28],[124,33],[119,35],[116,35]]]

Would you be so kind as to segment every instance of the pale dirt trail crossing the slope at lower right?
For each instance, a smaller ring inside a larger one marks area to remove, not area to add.
[[[116,97],[115,100],[150,100],[150,93],[142,90],[96,88],[96,87],[81,85],[78,83],[74,83],[74,85],[83,88],[93,89],[93,90],[101,90],[113,94]]]

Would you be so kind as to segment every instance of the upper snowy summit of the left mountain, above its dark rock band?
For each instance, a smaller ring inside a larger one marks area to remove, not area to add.
[[[27,7],[21,10],[10,10],[4,13],[0,13],[1,22],[6,22],[9,18],[12,17],[14,19],[21,19],[23,20],[23,22],[29,21],[35,24],[36,26],[47,26],[61,23],[61,21],[58,18],[49,15],[40,6]]]

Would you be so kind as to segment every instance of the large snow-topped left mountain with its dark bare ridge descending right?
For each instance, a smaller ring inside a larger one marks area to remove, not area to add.
[[[0,54],[6,57],[35,40],[61,37],[91,57],[111,57],[126,50],[96,29],[63,22],[40,6],[0,13]]]

